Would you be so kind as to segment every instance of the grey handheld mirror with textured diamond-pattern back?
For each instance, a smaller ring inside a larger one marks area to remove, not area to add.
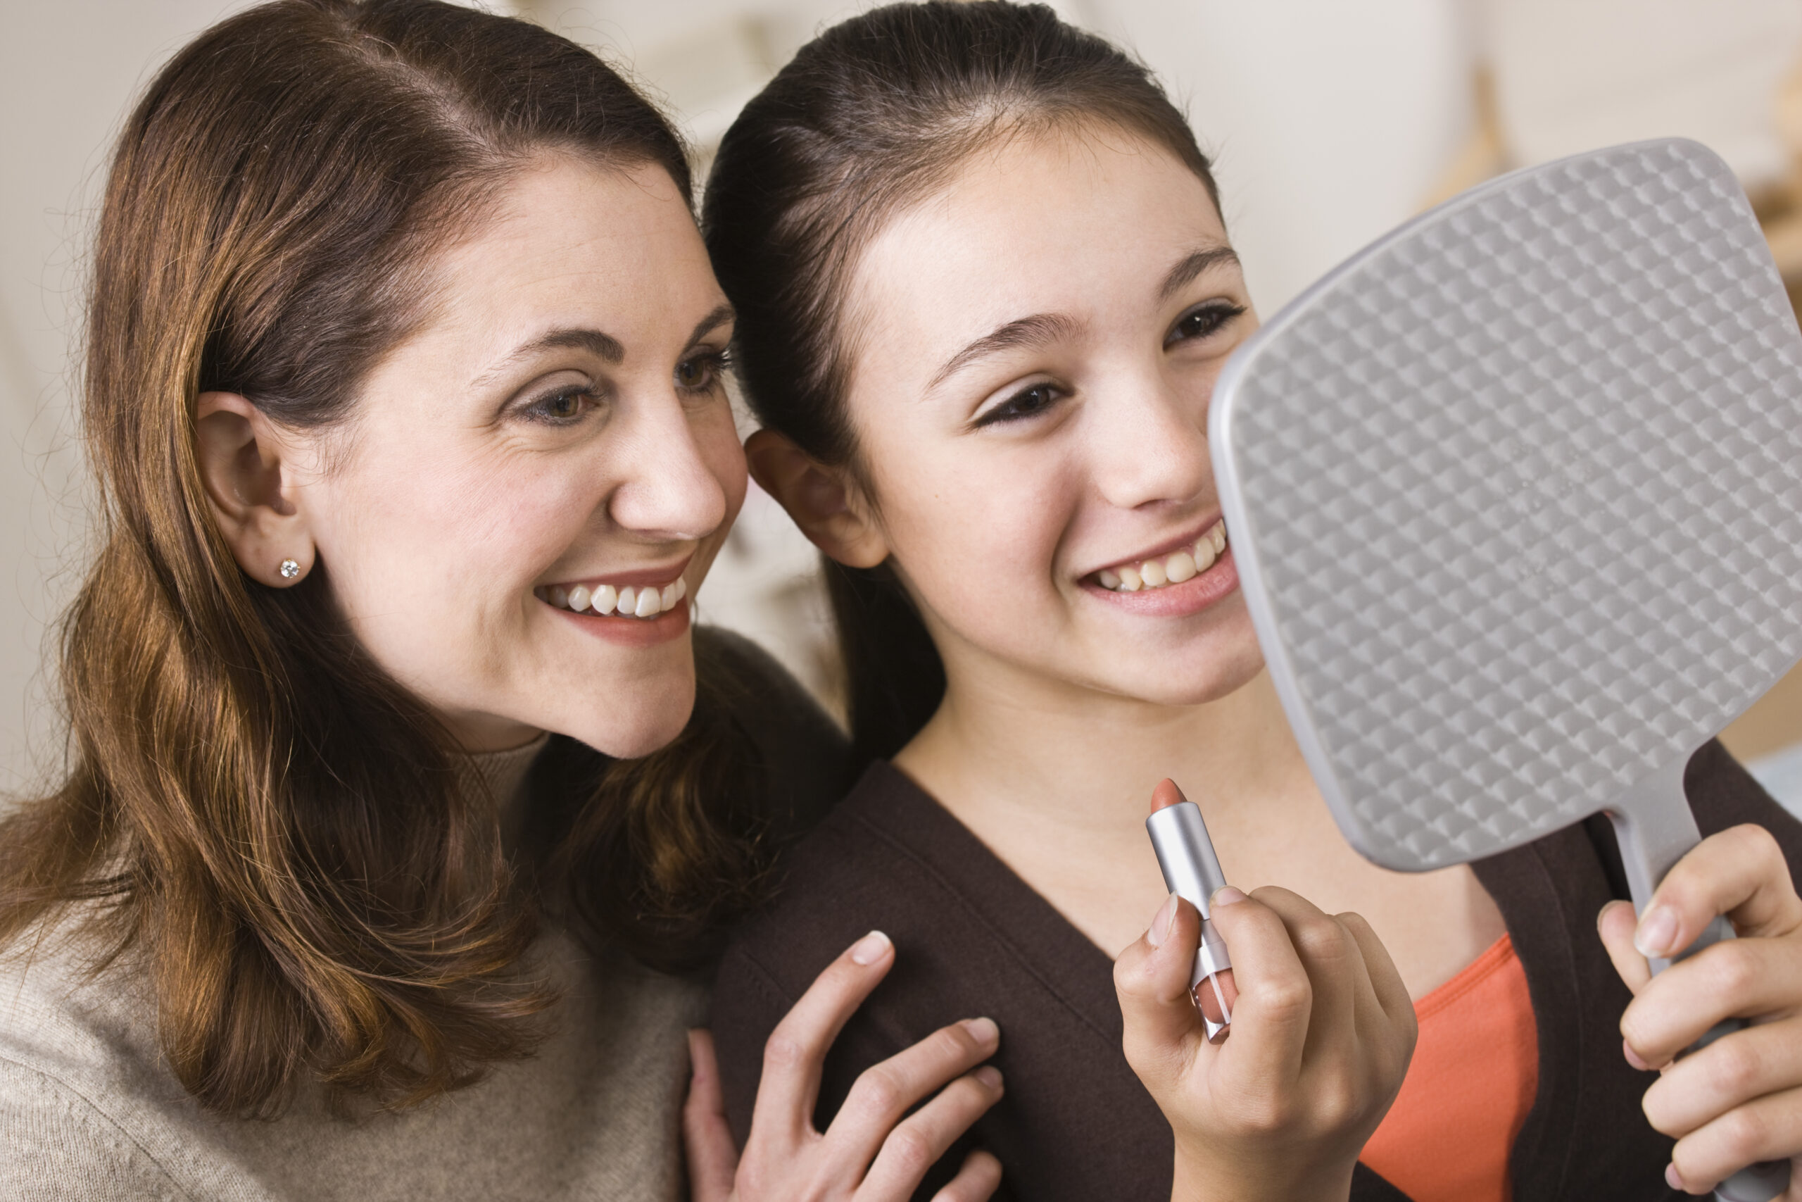
[[[1638,142],[1452,198],[1249,339],[1209,442],[1352,845],[1427,870],[1606,811],[1643,908],[1699,842],[1690,755],[1802,656],[1802,333],[1726,164]]]

